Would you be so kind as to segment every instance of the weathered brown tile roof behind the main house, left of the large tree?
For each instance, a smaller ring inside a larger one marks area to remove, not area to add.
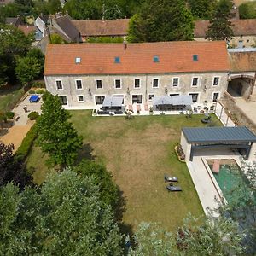
[[[119,20],[72,20],[82,37],[125,36],[129,19]]]

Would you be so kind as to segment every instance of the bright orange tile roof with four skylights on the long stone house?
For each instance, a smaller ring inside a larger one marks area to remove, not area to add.
[[[198,55],[198,61],[193,61]],[[154,56],[159,57],[154,62]],[[76,64],[75,58],[81,58]],[[119,63],[115,63],[119,57]],[[44,74],[135,74],[230,70],[224,41],[143,44],[48,44]]]

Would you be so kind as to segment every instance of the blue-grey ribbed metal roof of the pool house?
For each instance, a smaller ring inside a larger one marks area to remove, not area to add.
[[[247,143],[256,142],[256,136],[247,127],[183,128],[189,143]]]

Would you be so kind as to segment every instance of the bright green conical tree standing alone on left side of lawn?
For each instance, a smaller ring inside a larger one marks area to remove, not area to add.
[[[49,154],[50,163],[71,166],[82,147],[82,137],[67,121],[71,115],[62,108],[58,96],[46,92],[43,99],[42,114],[37,120],[38,144],[44,153]]]

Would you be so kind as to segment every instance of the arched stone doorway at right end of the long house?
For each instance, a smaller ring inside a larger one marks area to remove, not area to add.
[[[229,79],[228,93],[233,97],[248,99],[253,92],[253,78],[234,77]]]

